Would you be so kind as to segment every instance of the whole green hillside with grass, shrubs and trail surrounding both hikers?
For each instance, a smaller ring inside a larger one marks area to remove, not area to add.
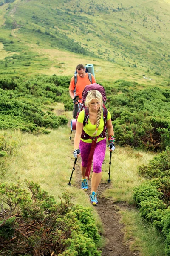
[[[0,255],[170,256],[169,13],[170,0],[0,0]],[[94,64],[116,137],[97,207],[73,156],[79,63]]]

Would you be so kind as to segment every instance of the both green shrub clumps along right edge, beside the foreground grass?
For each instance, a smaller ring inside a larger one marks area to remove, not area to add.
[[[147,166],[139,166],[140,174],[149,177],[134,188],[133,198],[141,216],[165,236],[165,254],[170,256],[170,148],[159,153]]]

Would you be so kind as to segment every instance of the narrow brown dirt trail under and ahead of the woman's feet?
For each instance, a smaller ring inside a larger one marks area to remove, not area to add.
[[[73,142],[72,142],[73,143]],[[91,171],[92,172],[92,171]],[[80,161],[77,162],[74,177],[76,179],[76,186],[78,188],[81,187],[81,175],[80,175]],[[90,194],[91,191],[91,179],[88,182]],[[125,205],[122,203],[114,203],[113,200],[104,198],[102,196],[102,192],[111,186],[111,183],[101,183],[98,188],[98,205],[96,206],[96,210],[102,220],[104,230],[105,230],[105,238],[106,245],[102,250],[102,256],[139,256],[139,253],[130,252],[129,244],[124,242],[124,233],[122,231],[124,225],[120,223],[121,216],[119,214],[118,207],[120,209]],[[86,192],[85,192],[86,193]]]

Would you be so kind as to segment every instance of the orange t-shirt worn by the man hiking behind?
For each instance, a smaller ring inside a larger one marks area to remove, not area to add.
[[[94,75],[91,74],[91,76],[92,76],[92,84],[96,83]],[[91,82],[88,78],[88,73],[85,73],[85,77],[83,78],[77,74],[76,94],[79,96],[79,99],[82,99],[82,92],[85,86],[89,84],[91,84]],[[75,85],[74,85],[74,76],[73,76],[70,81],[69,89],[74,90],[74,88],[75,88]]]

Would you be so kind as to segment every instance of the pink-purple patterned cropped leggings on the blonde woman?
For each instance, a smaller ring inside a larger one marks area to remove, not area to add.
[[[79,144],[81,157],[82,157],[82,167],[87,167],[88,165],[88,156],[90,154],[91,143],[84,142],[80,140]],[[94,150],[93,156],[93,171],[95,173],[102,172],[102,163],[105,158],[106,152],[106,139],[100,140],[96,143],[96,148]]]

